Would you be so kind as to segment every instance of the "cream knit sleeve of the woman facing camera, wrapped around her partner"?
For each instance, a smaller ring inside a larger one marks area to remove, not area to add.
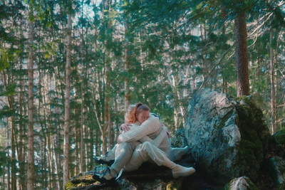
[[[133,127],[133,130],[120,134],[118,140],[119,142],[135,142],[148,134],[160,130],[160,127],[160,118],[150,115],[150,118],[139,127]]]

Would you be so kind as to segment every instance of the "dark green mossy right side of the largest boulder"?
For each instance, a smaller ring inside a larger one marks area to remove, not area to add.
[[[248,165],[244,174],[257,179],[257,172],[268,151],[269,130],[265,125],[262,111],[250,96],[237,97],[239,132],[241,141],[237,146],[239,160]]]

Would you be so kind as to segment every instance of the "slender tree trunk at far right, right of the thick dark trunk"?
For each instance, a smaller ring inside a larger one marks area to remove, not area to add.
[[[273,31],[270,31],[271,134],[276,132]]]

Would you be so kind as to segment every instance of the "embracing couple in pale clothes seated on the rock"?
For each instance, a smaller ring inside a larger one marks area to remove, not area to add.
[[[130,105],[125,112],[125,124],[120,126],[118,144],[105,156],[96,158],[98,162],[114,160],[106,171],[94,174],[93,179],[102,183],[112,181],[121,171],[134,171],[143,162],[154,162],[172,170],[172,176],[190,176],[195,173],[192,167],[182,167],[174,161],[189,151],[189,147],[170,147],[167,128],[160,117],[150,112],[150,107],[138,103]]]

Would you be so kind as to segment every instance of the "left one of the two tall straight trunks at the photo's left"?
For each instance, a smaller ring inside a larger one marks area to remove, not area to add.
[[[30,32],[28,53],[28,182],[27,189],[33,190],[34,157],[33,157],[33,22],[29,21]]]

